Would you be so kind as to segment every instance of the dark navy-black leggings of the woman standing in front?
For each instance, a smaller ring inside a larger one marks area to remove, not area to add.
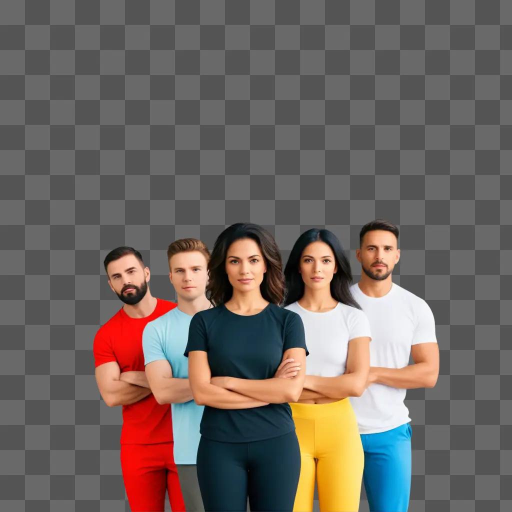
[[[201,436],[197,476],[206,512],[291,512],[301,452],[295,431],[247,443]]]

